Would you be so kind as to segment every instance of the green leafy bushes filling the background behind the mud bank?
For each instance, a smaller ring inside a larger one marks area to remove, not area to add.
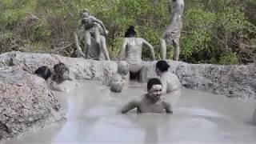
[[[185,5],[182,61],[256,62],[256,0],[185,0]],[[112,59],[130,25],[154,46],[160,58],[159,38],[170,21],[170,0],[0,0],[0,54],[20,50],[69,56],[83,8],[109,30]],[[149,50],[143,53],[144,59],[150,59]]]

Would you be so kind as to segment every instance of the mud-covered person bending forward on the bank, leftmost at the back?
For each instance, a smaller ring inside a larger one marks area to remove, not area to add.
[[[103,22],[90,15],[89,10],[87,9],[82,10],[81,18],[81,26],[79,26],[78,33],[74,33],[77,56],[95,60],[110,60],[106,48],[106,38],[103,36],[108,34],[108,31]],[[78,35],[82,35],[82,38],[85,38],[86,54],[82,52],[82,49],[79,46]]]

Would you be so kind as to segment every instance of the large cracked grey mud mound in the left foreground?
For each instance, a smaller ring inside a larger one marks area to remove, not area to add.
[[[16,66],[0,67],[0,111],[0,140],[65,118],[46,82]]]

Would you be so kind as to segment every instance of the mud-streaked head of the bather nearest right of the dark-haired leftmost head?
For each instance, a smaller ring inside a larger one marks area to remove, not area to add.
[[[62,78],[66,80],[69,78],[70,70],[69,68],[62,62],[54,65],[54,73],[58,76],[58,78]]]

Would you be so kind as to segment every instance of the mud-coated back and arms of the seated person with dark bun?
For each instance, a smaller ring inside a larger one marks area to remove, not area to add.
[[[152,58],[154,57],[154,47],[150,45],[149,42],[146,42],[143,38],[124,38],[122,43],[122,50],[120,54],[120,60],[123,57],[129,64],[129,71],[133,73],[137,73],[142,69],[142,48],[143,46],[147,46],[150,48],[150,52]]]

